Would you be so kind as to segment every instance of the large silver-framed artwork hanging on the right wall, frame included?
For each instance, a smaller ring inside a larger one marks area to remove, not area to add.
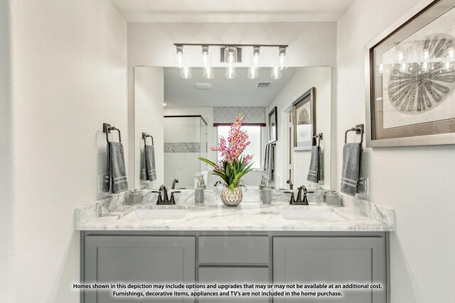
[[[415,7],[365,47],[367,147],[455,144],[455,1]]]

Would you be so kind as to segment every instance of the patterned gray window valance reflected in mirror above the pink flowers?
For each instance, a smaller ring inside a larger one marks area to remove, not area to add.
[[[265,126],[265,107],[214,107],[213,126],[231,125],[238,114],[245,117],[243,125]]]

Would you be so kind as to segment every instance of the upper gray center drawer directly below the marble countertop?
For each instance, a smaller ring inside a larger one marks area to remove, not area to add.
[[[200,236],[199,263],[269,263],[269,237]]]

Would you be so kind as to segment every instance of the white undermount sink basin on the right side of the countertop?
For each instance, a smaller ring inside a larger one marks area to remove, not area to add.
[[[279,214],[287,220],[346,220],[328,206],[295,206],[298,209],[280,209]]]

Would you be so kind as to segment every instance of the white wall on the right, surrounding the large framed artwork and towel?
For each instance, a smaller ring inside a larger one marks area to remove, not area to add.
[[[338,21],[338,142],[346,129],[365,123],[364,45],[417,3],[357,0]],[[370,194],[364,198],[397,215],[390,239],[392,302],[453,299],[454,155],[455,145],[365,150]],[[341,158],[338,144],[338,172]]]

